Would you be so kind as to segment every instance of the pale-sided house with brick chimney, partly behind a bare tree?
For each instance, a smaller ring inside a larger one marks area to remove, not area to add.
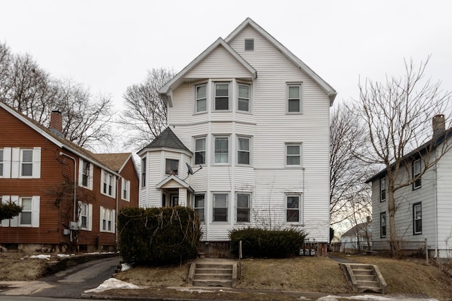
[[[421,147],[405,156],[406,164],[400,168],[399,179],[420,175],[425,160],[433,161],[451,147],[452,130],[445,129],[444,115],[432,119],[433,135]],[[430,150],[427,152],[427,150]],[[430,154],[427,156],[426,154]],[[389,214],[386,169],[367,180],[372,183],[373,249],[389,250]],[[396,235],[399,247],[405,252],[424,249],[427,240],[429,256],[452,256],[452,150],[412,185],[394,193],[396,199]]]

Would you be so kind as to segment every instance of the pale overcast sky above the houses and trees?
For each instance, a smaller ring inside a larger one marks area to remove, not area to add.
[[[250,17],[338,92],[359,77],[402,75],[403,59],[432,59],[427,75],[452,90],[451,1],[0,0],[0,39],[56,78],[112,94],[151,68],[179,71]]]

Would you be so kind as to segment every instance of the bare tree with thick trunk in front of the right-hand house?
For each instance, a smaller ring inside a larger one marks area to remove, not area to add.
[[[364,119],[369,137],[369,143],[355,149],[355,154],[368,164],[386,168],[390,245],[394,256],[398,254],[395,214],[400,202],[394,192],[412,185],[451,148],[446,140],[438,149],[437,140],[432,139],[432,117],[450,109],[451,92],[441,91],[441,82],[424,79],[428,61],[429,57],[419,67],[412,60],[405,61],[402,78],[359,81],[359,101],[353,106],[355,113]],[[417,149],[419,152],[413,156],[422,158],[420,172],[417,176],[408,172],[408,176],[400,177],[401,168],[408,168],[405,156]]]

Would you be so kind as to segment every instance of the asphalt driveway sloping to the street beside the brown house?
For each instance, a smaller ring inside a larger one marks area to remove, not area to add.
[[[120,261],[120,257],[97,259],[71,266],[37,281],[18,283],[14,288],[1,291],[0,300],[27,300],[14,296],[31,297],[28,300],[40,300],[37,297],[78,299],[85,290],[97,288],[100,283],[110,278]]]

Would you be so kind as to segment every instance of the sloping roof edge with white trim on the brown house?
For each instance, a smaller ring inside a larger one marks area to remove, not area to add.
[[[114,169],[114,166],[112,168],[112,166],[109,166],[108,164],[105,164],[104,162],[97,159],[97,155],[99,154],[94,154],[93,152],[90,152],[88,149],[84,149],[83,147],[76,145],[75,143],[62,137],[60,134],[54,133],[53,130],[46,128],[44,125],[38,123],[37,121],[28,116],[25,116],[23,113],[20,113],[16,109],[13,109],[11,106],[8,106],[3,102],[0,102],[0,107],[5,109],[5,111],[7,111],[8,113],[11,113],[11,115],[13,115],[15,118],[18,118],[18,120],[25,123],[25,125],[28,125],[30,128],[32,128],[32,130],[35,130],[37,133],[45,137],[47,140],[54,143],[54,145],[57,145],[57,147],[61,147],[61,149],[67,149],[69,150],[69,152],[76,154],[82,159],[91,161],[93,164],[100,166],[101,168],[104,168],[105,170],[111,173],[117,174],[117,170]]]

